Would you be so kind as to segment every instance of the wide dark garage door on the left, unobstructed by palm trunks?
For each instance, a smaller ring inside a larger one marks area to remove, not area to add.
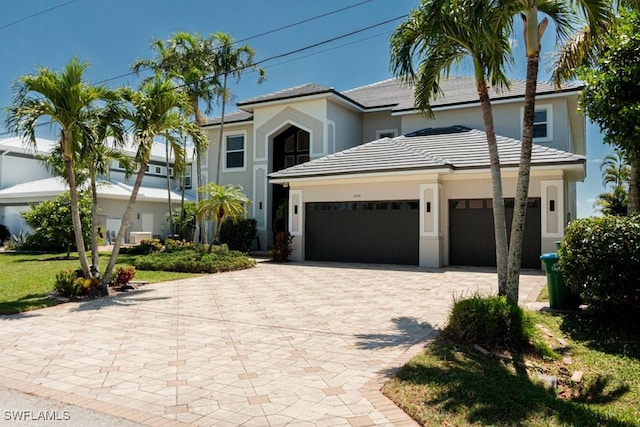
[[[305,206],[305,258],[418,264],[417,200],[323,202]]]

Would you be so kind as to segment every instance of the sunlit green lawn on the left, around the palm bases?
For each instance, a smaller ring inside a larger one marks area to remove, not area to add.
[[[135,256],[121,254],[116,268],[132,265],[133,258]],[[108,259],[108,254],[100,256],[101,269],[107,265]],[[0,253],[0,314],[18,313],[58,304],[56,300],[47,297],[47,293],[53,291],[56,273],[79,266],[77,254],[72,254],[71,259],[66,259],[66,254]],[[194,276],[197,275],[137,271],[134,280],[162,282]]]

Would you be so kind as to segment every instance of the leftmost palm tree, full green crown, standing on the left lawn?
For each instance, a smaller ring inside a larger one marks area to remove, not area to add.
[[[88,132],[87,124],[110,91],[104,86],[92,86],[84,81],[87,67],[87,63],[79,63],[73,58],[61,72],[41,67],[35,74],[19,77],[14,85],[13,105],[7,109],[6,125],[34,148],[36,124],[41,118],[46,117],[60,127],[58,144],[71,195],[71,219],[80,267],[85,277],[90,277],[78,210],[74,160],[84,144],[81,138]]]

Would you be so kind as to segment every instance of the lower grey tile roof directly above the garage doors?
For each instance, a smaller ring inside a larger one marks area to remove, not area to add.
[[[520,163],[520,141],[497,137],[500,163]],[[584,156],[534,144],[532,166],[582,164]],[[425,169],[487,169],[489,151],[484,131],[462,126],[428,128],[393,139],[382,138],[339,153],[269,174],[270,179],[296,179],[356,173]]]

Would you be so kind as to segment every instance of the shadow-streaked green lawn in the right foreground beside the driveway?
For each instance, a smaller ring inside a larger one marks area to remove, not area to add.
[[[638,426],[640,332],[636,322],[583,314],[533,313],[565,339],[571,363],[514,355],[535,368],[502,362],[438,339],[401,368],[383,392],[427,426]],[[580,383],[571,381],[583,371]],[[537,374],[555,375],[550,391]]]

